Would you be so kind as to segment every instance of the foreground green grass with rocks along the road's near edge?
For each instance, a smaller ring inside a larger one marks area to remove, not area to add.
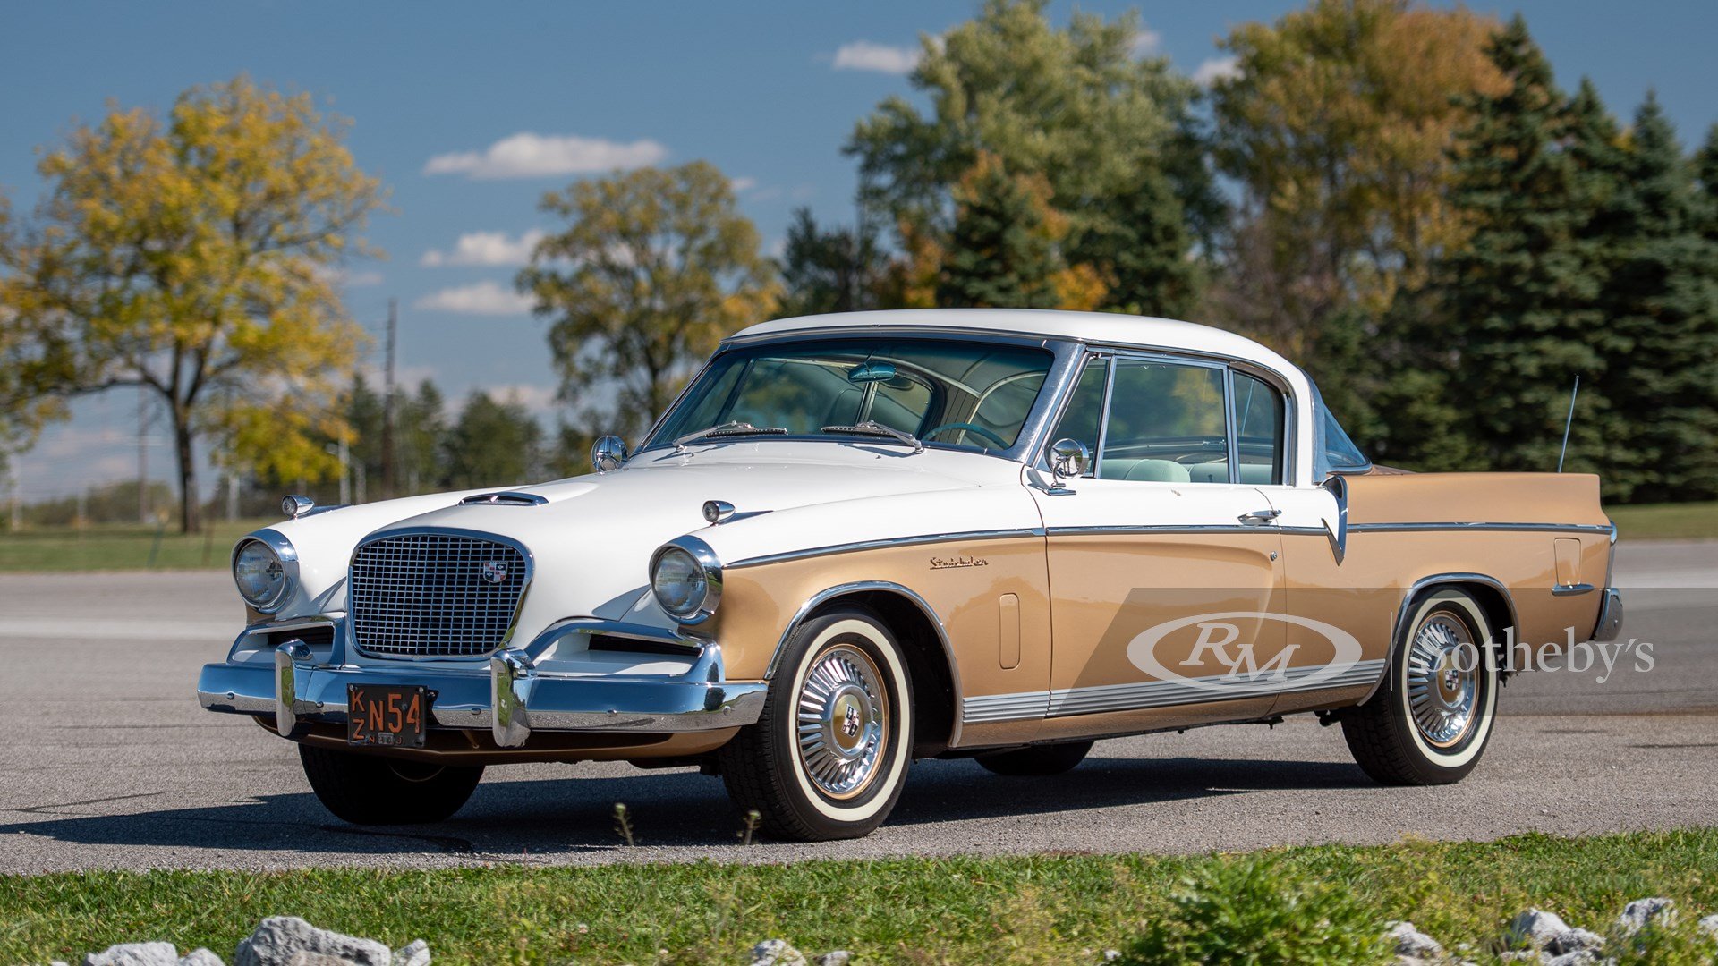
[[[1020,856],[0,877],[0,963],[76,961],[122,940],[168,940],[180,952],[206,945],[230,959],[270,914],[395,947],[423,937],[436,963],[744,963],[744,951],[766,937],[807,954],[849,949],[859,963],[1094,963],[1098,951],[1125,949],[1144,923],[1175,914],[1172,894],[1189,877],[1221,882],[1213,871],[1232,861]],[[1309,846],[1273,851],[1264,866],[1283,877],[1283,889],[1340,890],[1378,928],[1407,918],[1447,947],[1472,944],[1467,956],[1481,961],[1495,957],[1510,916],[1529,906],[1598,932],[1644,896],[1675,899],[1689,926],[1691,913],[1718,911],[1718,828]]]

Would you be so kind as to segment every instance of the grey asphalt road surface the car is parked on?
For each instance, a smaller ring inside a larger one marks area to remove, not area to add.
[[[1517,679],[1459,786],[1374,787],[1340,729],[1302,717],[1105,741],[1062,779],[923,761],[868,839],[740,847],[718,779],[629,765],[491,768],[452,822],[344,825],[290,744],[191,696],[239,621],[223,572],[0,576],[0,873],[1191,853],[1718,823],[1718,543],[1624,545],[1617,583],[1624,639],[1653,643],[1653,670]],[[637,847],[615,835],[617,801]]]

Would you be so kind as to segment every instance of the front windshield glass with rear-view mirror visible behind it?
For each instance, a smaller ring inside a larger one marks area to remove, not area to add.
[[[740,426],[706,440],[785,431],[850,442],[850,430],[876,423],[926,445],[1005,450],[1053,359],[1038,347],[902,337],[732,349],[698,376],[646,445],[732,423]]]

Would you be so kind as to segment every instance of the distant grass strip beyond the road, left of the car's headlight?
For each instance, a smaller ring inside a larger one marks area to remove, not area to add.
[[[17,571],[141,571],[225,567],[232,545],[273,521],[210,524],[206,533],[180,535],[175,528],[94,524],[26,528],[0,533],[0,572]],[[160,535],[160,545],[156,545]]]

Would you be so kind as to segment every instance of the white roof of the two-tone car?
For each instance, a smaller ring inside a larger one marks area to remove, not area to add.
[[[1299,368],[1275,351],[1234,332],[1137,315],[1051,309],[890,309],[852,311],[833,315],[807,315],[761,321],[732,335],[780,335],[789,332],[816,332],[819,328],[971,328],[976,332],[1007,332],[1069,339],[1103,345],[1134,345],[1141,349],[1179,349],[1258,363],[1290,380]],[[1295,380],[1299,382],[1299,380]],[[1299,387],[1297,387],[1299,388]]]

